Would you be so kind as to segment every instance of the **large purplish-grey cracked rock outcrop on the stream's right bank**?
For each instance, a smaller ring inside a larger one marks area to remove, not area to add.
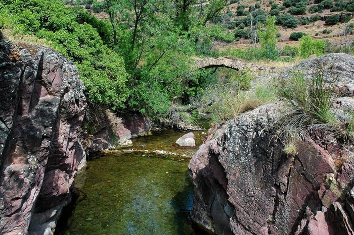
[[[350,66],[335,71],[346,74]],[[350,95],[354,71],[342,78]],[[343,159],[354,154],[342,139],[315,127],[303,133],[296,154],[285,154],[282,139],[274,138],[282,105],[243,113],[214,139],[208,135],[189,164],[193,220],[218,234],[353,234],[354,168]]]

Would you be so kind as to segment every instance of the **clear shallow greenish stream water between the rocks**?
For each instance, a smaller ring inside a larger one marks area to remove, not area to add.
[[[205,134],[194,132],[199,146]],[[133,139],[134,149],[192,156],[172,146],[185,133],[172,130]],[[190,219],[193,186],[189,159],[155,154],[108,154],[90,161],[76,187],[85,195],[65,234],[197,234]]]

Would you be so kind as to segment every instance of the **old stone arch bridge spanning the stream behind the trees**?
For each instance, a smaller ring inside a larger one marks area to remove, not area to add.
[[[208,68],[229,68],[237,71],[242,71],[244,68],[249,68],[254,73],[260,72],[275,72],[276,67],[262,66],[253,63],[248,63],[233,57],[209,57],[203,59],[196,59],[195,66],[198,69]]]

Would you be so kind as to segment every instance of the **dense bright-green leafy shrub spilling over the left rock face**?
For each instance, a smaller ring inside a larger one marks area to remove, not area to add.
[[[98,30],[93,28],[83,20],[82,9],[66,8],[61,1],[17,0],[7,5],[5,11],[20,31],[47,39],[56,50],[75,61],[92,102],[113,108],[124,106],[128,75],[121,56],[104,45],[98,33],[108,31],[105,24],[96,22],[93,25]],[[86,19],[94,22],[90,17]]]

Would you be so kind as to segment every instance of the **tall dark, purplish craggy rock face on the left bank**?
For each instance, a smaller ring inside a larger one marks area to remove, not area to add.
[[[85,161],[84,86],[53,49],[0,48],[0,233],[51,234]]]

